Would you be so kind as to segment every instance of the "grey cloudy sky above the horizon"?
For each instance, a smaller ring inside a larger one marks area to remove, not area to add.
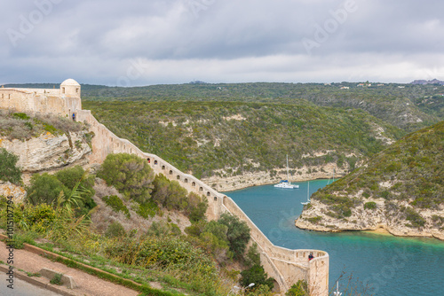
[[[444,80],[442,0],[0,0],[0,83]]]

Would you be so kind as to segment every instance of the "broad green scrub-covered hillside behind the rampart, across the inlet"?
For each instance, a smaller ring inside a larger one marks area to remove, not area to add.
[[[218,169],[225,169],[216,172],[221,176],[272,170],[284,166],[285,154],[292,174],[304,165],[329,162],[353,168],[362,156],[385,147],[377,136],[404,135],[361,110],[314,105],[86,101],[83,107],[117,136],[197,177]],[[378,127],[385,129],[382,135]]]

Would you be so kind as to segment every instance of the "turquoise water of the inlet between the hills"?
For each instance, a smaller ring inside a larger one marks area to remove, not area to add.
[[[444,242],[432,238],[396,238],[367,232],[320,233],[299,230],[294,220],[302,212],[307,183],[299,189],[273,185],[226,192],[258,225],[274,245],[290,249],[317,249],[329,253],[329,285],[337,278],[345,289],[346,277],[367,289],[367,295],[444,296]],[[310,194],[327,180],[310,182]],[[343,293],[343,295],[345,295]],[[348,293],[347,293],[348,295]]]

